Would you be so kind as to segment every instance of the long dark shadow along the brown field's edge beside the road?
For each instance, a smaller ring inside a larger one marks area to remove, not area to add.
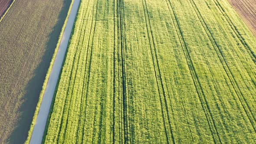
[[[42,57],[42,61],[34,71],[33,78],[26,86],[26,94],[23,96],[24,102],[21,105],[19,111],[20,118],[17,122],[16,128],[10,137],[8,137],[7,142],[10,144],[23,144],[26,141],[28,131],[30,129],[30,124],[36,110],[39,94],[42,90],[43,82],[49,69],[49,65],[59,39],[59,34],[66,19],[70,3],[71,0],[63,0],[64,7],[62,7],[62,10],[60,11],[58,22],[48,36],[49,40],[46,45],[46,51]]]

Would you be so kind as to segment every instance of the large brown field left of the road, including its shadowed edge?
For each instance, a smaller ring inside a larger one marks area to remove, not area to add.
[[[24,143],[71,0],[16,0],[0,22],[0,144]]]

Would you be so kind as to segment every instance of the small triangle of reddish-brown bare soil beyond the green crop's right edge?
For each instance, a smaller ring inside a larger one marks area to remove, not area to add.
[[[253,33],[256,34],[256,0],[229,0],[231,5],[242,16]]]

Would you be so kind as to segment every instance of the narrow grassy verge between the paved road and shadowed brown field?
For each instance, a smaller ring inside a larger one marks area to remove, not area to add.
[[[49,76],[50,76],[50,73],[51,73],[52,68],[53,68],[53,63],[54,63],[54,61],[55,61],[57,52],[58,52],[58,50],[59,50],[59,45],[60,45],[60,42],[61,42],[61,39],[62,39],[62,35],[63,35],[64,30],[65,30],[65,27],[66,27],[68,18],[69,18],[69,14],[70,14],[71,9],[72,9],[73,3],[74,3],[74,0],[72,0],[72,2],[71,2],[71,4],[70,4],[70,7],[69,7],[69,11],[68,11],[66,20],[65,20],[64,25],[63,25],[63,27],[62,27],[61,33],[60,33],[60,35],[59,35],[59,41],[58,41],[58,43],[57,43],[57,45],[56,45],[56,49],[55,49],[55,51],[54,51],[52,61],[51,61],[51,63],[50,63],[48,72],[47,72],[47,74],[46,74],[46,79],[45,79],[45,81],[44,81],[44,83],[43,83],[42,91],[41,91],[41,93],[40,93],[40,95],[39,95],[39,100],[38,100],[38,103],[37,103],[37,106],[36,106],[36,111],[35,111],[35,114],[34,114],[34,116],[33,116],[33,120],[32,120],[32,122],[31,122],[31,126],[30,126],[30,131],[28,132],[28,137],[27,137],[27,140],[26,140],[25,144],[29,144],[29,142],[30,142],[30,139],[31,139],[31,136],[32,136],[32,132],[33,132],[33,129],[34,129],[34,126],[35,126],[35,123],[36,123],[36,118],[37,118],[37,115],[38,115],[38,112],[39,112],[39,109],[40,109],[40,106],[41,106],[41,102],[42,102],[42,100],[43,100],[43,94],[44,94],[44,92],[45,92],[45,90],[46,90],[46,86],[47,86],[47,83],[48,83],[48,80],[49,80]],[[1,22],[1,21],[0,21],[0,22]]]

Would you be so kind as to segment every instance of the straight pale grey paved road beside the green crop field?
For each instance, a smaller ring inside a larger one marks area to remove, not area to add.
[[[37,115],[36,124],[33,129],[30,144],[40,144],[43,139],[44,129],[46,126],[47,118],[49,115],[51,103],[53,100],[53,95],[55,92],[56,84],[59,79],[59,73],[62,68],[62,62],[66,54],[66,49],[69,43],[69,37],[72,32],[73,24],[75,21],[76,13],[79,7],[80,0],[75,0],[69,15],[69,19],[64,30],[61,43],[59,45],[59,50],[56,55],[56,59],[53,64],[51,74],[49,76],[49,81],[43,95],[43,100]]]

